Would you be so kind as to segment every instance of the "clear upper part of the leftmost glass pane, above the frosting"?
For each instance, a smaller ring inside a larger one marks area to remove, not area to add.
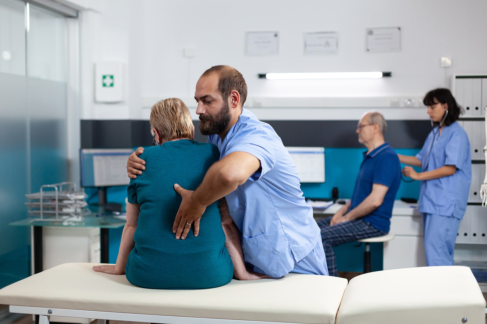
[[[0,0],[0,72],[25,75],[25,2]]]

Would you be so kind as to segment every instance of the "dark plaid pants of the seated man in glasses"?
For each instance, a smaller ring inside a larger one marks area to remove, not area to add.
[[[357,239],[367,239],[376,236],[386,235],[387,232],[380,231],[368,222],[362,219],[357,219],[349,222],[341,222],[330,226],[332,217],[327,217],[317,221],[319,229],[321,230],[321,240],[323,242],[323,249],[325,250],[326,264],[328,265],[329,275],[338,276],[337,262],[335,260],[335,252],[333,247],[354,242]]]

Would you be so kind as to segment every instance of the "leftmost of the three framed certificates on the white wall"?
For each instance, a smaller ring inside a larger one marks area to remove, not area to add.
[[[279,54],[279,32],[247,32],[245,55],[270,56]]]

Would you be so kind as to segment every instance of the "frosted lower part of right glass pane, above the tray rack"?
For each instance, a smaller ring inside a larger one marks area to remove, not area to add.
[[[28,78],[32,192],[68,180],[66,83]]]

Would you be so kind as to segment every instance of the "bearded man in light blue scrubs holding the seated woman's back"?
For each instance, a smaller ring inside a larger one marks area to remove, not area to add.
[[[231,235],[242,239],[244,261],[255,272],[327,275],[319,228],[302,196],[296,166],[274,129],[243,108],[246,96],[244,77],[235,68],[214,66],[198,80],[200,132],[218,146],[220,161],[196,190],[174,185],[182,196],[175,238],[185,239],[191,228],[197,236],[206,206],[225,197],[233,222],[223,225],[233,226]],[[127,164],[132,179],[144,170],[140,151]]]

